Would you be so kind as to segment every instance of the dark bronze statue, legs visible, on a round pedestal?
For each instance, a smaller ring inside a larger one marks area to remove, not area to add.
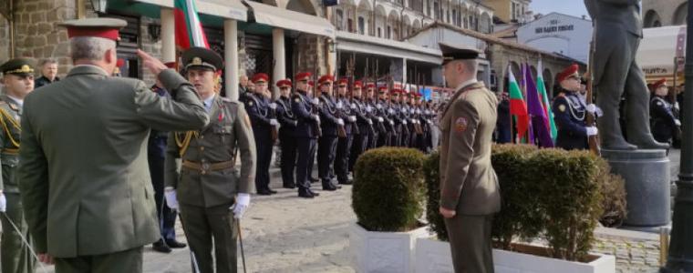
[[[632,150],[667,148],[650,132],[649,92],[636,63],[642,39],[639,0],[584,0],[595,22],[594,87],[604,116],[597,126],[602,147]],[[626,138],[618,123],[619,102],[626,98]]]

